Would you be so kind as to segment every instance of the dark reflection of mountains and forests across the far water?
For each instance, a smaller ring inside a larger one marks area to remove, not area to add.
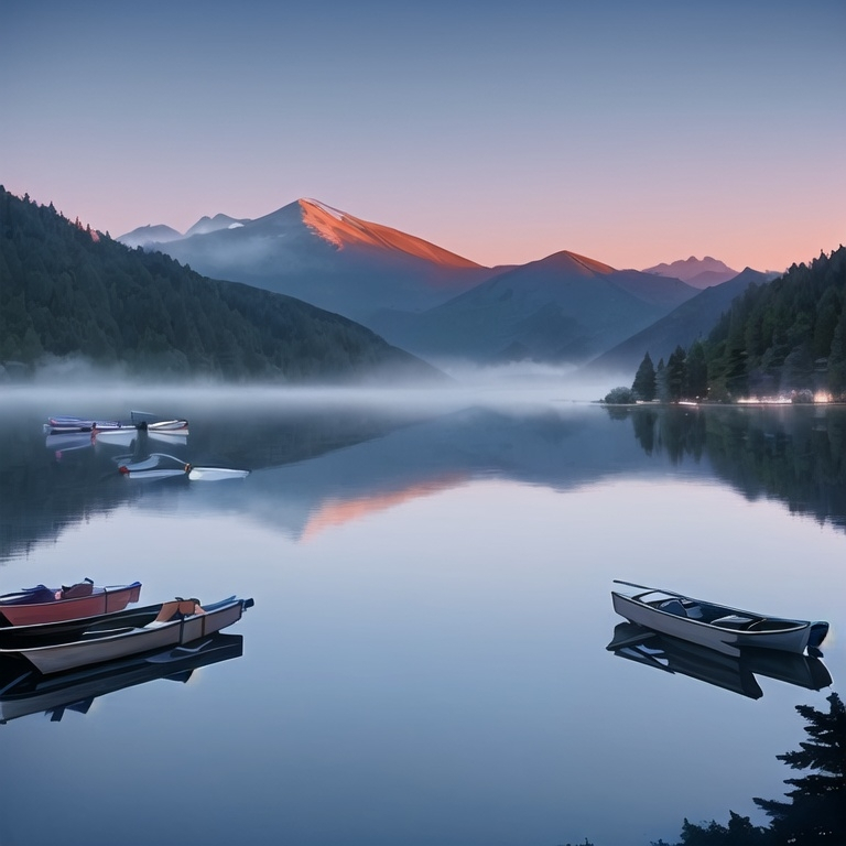
[[[668,469],[716,475],[749,499],[778,498],[791,511],[846,527],[842,408],[604,411],[550,403],[520,413],[437,413],[422,405],[185,404],[178,413],[191,419],[192,434],[163,435],[166,448],[135,430],[45,441],[40,420],[7,405],[0,411],[0,558],[26,554],[91,513],[142,497],[165,503],[185,496],[186,465],[260,471],[242,491],[217,490],[203,507],[249,512],[297,538],[477,478],[570,489]],[[117,473],[152,456],[160,458],[151,469],[173,470],[151,473],[155,486],[128,485]]]

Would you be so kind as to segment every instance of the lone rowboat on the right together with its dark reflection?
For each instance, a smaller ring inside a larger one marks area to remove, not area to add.
[[[818,691],[832,683],[820,660],[828,633],[824,620],[772,617],[694,599],[672,590],[618,584],[611,592],[618,623],[608,651],[750,698],[763,695],[756,675]]]

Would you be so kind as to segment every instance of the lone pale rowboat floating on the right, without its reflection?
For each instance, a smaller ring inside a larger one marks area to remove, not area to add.
[[[672,590],[615,582],[640,589],[633,595],[611,590],[614,610],[621,617],[726,655],[739,655],[742,647],[780,649],[799,654],[806,649],[816,652],[828,633],[828,623],[823,620],[770,617],[693,599]]]

